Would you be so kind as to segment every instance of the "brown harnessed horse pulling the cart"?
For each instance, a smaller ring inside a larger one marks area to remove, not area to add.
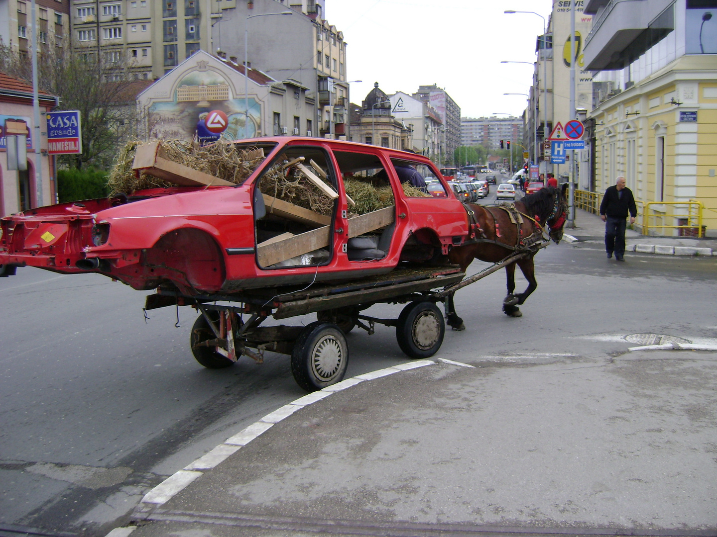
[[[503,311],[508,316],[521,316],[518,305],[523,304],[538,287],[533,267],[535,254],[549,241],[548,237],[556,244],[563,238],[568,208],[566,190],[567,185],[563,188],[542,188],[516,201],[512,208],[465,204],[471,234],[462,246],[450,251],[451,263],[460,265],[465,272],[473,259],[500,263],[513,253],[527,254],[505,266],[508,296],[503,301]],[[522,293],[513,294],[516,289],[516,264],[528,280],[528,287]],[[453,294],[446,297],[445,309],[448,325],[454,330],[465,329],[462,319],[455,313]]]

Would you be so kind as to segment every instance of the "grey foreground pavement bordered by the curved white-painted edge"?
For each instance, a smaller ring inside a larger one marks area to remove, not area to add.
[[[646,358],[439,358],[346,379],[179,470],[108,537],[713,536],[713,429],[684,412],[710,382],[647,389],[644,412],[616,381]]]

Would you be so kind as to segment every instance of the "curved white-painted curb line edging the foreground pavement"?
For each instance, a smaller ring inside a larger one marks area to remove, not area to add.
[[[463,365],[466,367],[473,367],[467,364],[461,364],[460,362],[451,362],[450,360],[442,360],[442,362],[446,362],[448,364]],[[170,475],[168,478],[163,480],[162,483],[160,483],[155,488],[146,493],[146,495],[144,495],[144,498],[142,498],[141,503],[153,503],[155,505],[167,503],[174,495],[179,493],[181,490],[186,488],[187,485],[189,485],[194,480],[196,480],[196,478],[199,478],[202,475],[202,472],[199,470],[211,470],[215,466],[219,465],[219,463],[222,463],[222,461],[229,458],[230,455],[237,453],[237,451],[241,449],[242,446],[247,445],[259,435],[262,435],[264,432],[267,432],[267,430],[270,430],[270,428],[273,427],[276,423],[280,422],[286,417],[289,417],[294,412],[302,409],[303,407],[320,401],[324,397],[328,397],[333,393],[340,392],[341,390],[346,390],[346,388],[355,386],[360,382],[386,377],[386,375],[389,374],[408,371],[410,369],[416,369],[417,367],[425,367],[427,365],[435,363],[436,362],[434,362],[433,360],[417,360],[414,362],[406,362],[404,364],[399,364],[393,367],[386,367],[385,369],[376,369],[376,371],[360,374],[351,379],[342,380],[341,382],[337,382],[336,384],[328,386],[323,390],[311,392],[310,394],[304,395],[303,397],[299,397],[297,400],[288,403],[288,405],[284,405],[282,407],[277,408],[277,410],[275,410],[274,412],[270,412],[269,414],[265,415],[265,417],[262,417],[261,420],[252,423],[252,425],[249,425],[248,427],[245,427],[244,430],[238,432],[232,437],[227,438],[227,440],[225,440],[223,444],[217,445],[217,447],[211,450],[209,453],[206,453],[205,455],[196,459],[193,463],[186,465],[184,469],[179,470],[178,472]],[[124,530],[128,528],[117,529]],[[129,533],[127,533],[126,535],[129,535]],[[125,537],[125,534],[110,532],[110,535],[108,535],[107,537]]]

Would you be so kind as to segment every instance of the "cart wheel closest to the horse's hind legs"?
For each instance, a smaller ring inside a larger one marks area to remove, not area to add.
[[[396,339],[411,358],[433,356],[443,343],[445,322],[433,302],[412,302],[399,315]]]

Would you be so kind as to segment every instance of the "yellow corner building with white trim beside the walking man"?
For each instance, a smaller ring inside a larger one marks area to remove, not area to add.
[[[586,6],[597,21],[586,63],[598,83],[588,112],[591,177],[580,187],[599,198],[624,176],[645,233],[692,235],[700,225],[710,236],[717,231],[717,24],[707,32],[708,10],[692,6]],[[700,33],[702,42],[695,40]]]

